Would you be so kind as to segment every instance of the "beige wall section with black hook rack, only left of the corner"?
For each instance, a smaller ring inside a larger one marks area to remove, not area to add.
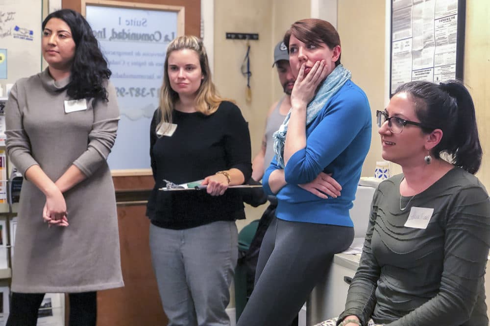
[[[234,99],[249,123],[252,151],[260,145],[262,126],[272,100],[270,73],[272,3],[262,0],[215,1],[215,75],[214,81],[221,95]],[[258,41],[250,41],[250,86],[252,100],[245,99],[246,77],[241,65],[246,53],[246,41],[226,40],[225,32],[259,33]]]

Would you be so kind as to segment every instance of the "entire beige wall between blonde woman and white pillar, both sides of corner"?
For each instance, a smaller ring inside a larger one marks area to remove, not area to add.
[[[271,67],[273,48],[291,23],[309,17],[310,6],[292,0],[215,0],[214,7],[214,81],[220,94],[234,99],[242,109],[253,157],[260,148],[270,105],[282,94],[277,73]],[[246,78],[240,71],[246,42],[226,40],[225,32],[259,33],[259,41],[250,41],[250,102],[245,99]],[[239,230],[260,218],[265,208],[246,207],[247,219],[237,222]]]

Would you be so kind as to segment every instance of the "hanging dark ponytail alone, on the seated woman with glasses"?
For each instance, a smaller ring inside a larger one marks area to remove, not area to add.
[[[483,151],[478,136],[473,99],[460,82],[441,83],[439,87],[456,100],[458,107],[456,124],[447,141],[452,146],[446,149],[446,152],[453,156],[455,165],[475,174],[482,163]]]

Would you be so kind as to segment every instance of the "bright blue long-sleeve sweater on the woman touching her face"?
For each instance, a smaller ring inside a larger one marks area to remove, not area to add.
[[[275,157],[266,170],[264,190],[277,196],[276,216],[287,221],[352,227],[349,210],[370,143],[368,98],[349,80],[306,126],[306,147],[289,159],[284,168],[287,185],[277,194],[269,186],[270,173],[280,169]],[[313,181],[321,171],[332,173],[342,186],[341,196],[322,199],[298,186]]]

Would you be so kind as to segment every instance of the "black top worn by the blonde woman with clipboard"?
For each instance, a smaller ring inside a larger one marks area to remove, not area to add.
[[[172,123],[177,128],[172,136],[161,138],[156,134],[158,110],[150,125],[151,169],[155,179],[147,204],[151,223],[181,230],[245,218],[242,196],[236,189],[228,189],[222,196],[211,196],[205,190],[158,190],[165,186],[163,179],[182,184],[230,168],[239,169],[248,180],[252,173],[250,135],[240,109],[223,101],[209,116],[174,110]]]

